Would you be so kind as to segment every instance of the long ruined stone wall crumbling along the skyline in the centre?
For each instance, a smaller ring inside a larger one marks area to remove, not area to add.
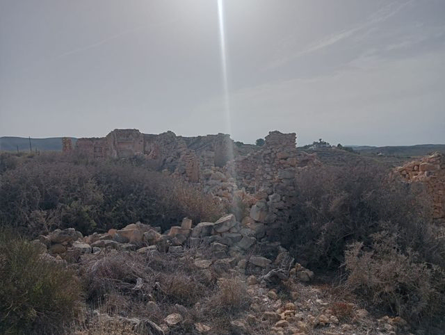
[[[238,147],[223,133],[183,137],[116,129],[105,138],[79,139],[76,150],[94,158],[143,155],[156,170],[199,183],[227,206],[245,208],[245,222],[268,231],[288,218],[296,174],[317,163],[316,156],[297,151],[296,133],[279,131],[270,131],[263,147]]]

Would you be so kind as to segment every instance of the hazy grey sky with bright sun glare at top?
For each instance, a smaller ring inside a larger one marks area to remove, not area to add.
[[[445,1],[0,0],[0,136],[124,128],[443,144]]]

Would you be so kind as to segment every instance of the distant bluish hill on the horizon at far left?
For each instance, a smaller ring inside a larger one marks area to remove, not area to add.
[[[71,138],[72,145],[76,143],[76,138]],[[0,151],[29,152],[29,138],[3,136],[0,137]],[[31,138],[33,151],[37,148],[40,152],[60,152],[62,151],[62,138]]]

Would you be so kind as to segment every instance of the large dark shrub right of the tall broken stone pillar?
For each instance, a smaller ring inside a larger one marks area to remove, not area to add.
[[[428,222],[429,209],[419,202],[423,190],[389,182],[387,174],[369,162],[301,172],[293,213],[282,226],[282,243],[314,269],[338,268],[348,243],[369,244],[371,235],[384,229],[401,232],[403,247],[421,248],[420,227]]]

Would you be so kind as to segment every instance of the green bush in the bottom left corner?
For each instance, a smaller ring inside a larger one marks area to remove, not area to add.
[[[61,334],[81,307],[74,273],[29,241],[0,231],[0,333]]]

